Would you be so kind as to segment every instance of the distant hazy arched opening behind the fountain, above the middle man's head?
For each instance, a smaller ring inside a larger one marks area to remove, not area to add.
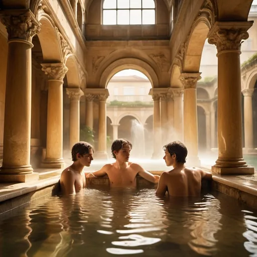
[[[145,156],[144,126],[134,117],[125,116],[119,121],[118,138],[129,140],[133,144],[131,156],[142,158]]]

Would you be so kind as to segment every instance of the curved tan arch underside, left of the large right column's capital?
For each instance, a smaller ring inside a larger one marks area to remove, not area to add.
[[[205,16],[200,16],[194,22],[185,50],[183,72],[199,72],[202,51],[210,28],[210,21]]]

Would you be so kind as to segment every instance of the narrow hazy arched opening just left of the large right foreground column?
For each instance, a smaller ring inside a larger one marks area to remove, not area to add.
[[[206,116],[203,107],[197,106],[198,125],[198,149],[199,152],[206,150]]]

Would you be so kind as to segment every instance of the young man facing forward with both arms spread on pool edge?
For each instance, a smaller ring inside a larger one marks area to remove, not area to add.
[[[151,174],[139,164],[129,162],[132,147],[131,142],[128,140],[115,140],[111,145],[111,154],[116,162],[106,164],[100,170],[90,173],[86,177],[103,177],[107,174],[110,187],[136,187],[137,175],[152,183],[158,183],[160,176]]]

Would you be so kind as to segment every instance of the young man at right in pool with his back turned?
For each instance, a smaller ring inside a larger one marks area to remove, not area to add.
[[[174,141],[163,147],[164,160],[173,170],[163,172],[156,191],[157,195],[198,196],[201,192],[201,180],[211,179],[212,174],[199,168],[185,166],[187,157],[186,146]]]

